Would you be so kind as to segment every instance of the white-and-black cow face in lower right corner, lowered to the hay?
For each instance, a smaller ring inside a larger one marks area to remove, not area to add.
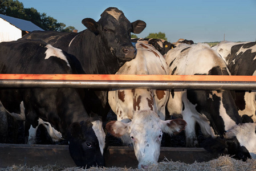
[[[256,158],[256,123],[235,125],[224,134],[227,152],[239,160]]]

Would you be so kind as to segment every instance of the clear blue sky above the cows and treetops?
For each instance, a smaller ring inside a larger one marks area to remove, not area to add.
[[[180,38],[194,42],[256,41],[256,0],[19,0],[66,26],[86,29],[84,18],[98,21],[107,7],[122,10],[129,21],[141,19],[147,27],[139,38],[164,32],[169,42]]]

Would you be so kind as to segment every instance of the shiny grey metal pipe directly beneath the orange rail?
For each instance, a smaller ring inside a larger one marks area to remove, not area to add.
[[[156,88],[156,89],[256,89],[256,82],[230,81],[125,81],[125,80],[0,80],[0,88]]]

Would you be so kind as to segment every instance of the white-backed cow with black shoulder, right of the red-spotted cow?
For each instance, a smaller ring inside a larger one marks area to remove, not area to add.
[[[172,75],[230,75],[224,60],[208,44],[180,44],[170,50],[165,59]],[[223,139],[227,130],[242,123],[231,92],[223,89],[171,90],[168,111],[173,115],[182,115],[186,121],[187,146],[197,145],[196,123],[204,136],[213,139]],[[225,144],[224,141],[222,148],[227,145],[231,148],[234,144]],[[235,152],[246,153],[241,148]],[[247,158],[247,153],[243,156]]]

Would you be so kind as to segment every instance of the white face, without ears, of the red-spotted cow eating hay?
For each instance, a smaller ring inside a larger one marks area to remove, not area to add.
[[[159,117],[152,111],[140,111],[133,116],[131,123],[130,137],[139,161],[138,168],[156,164],[162,139]]]

